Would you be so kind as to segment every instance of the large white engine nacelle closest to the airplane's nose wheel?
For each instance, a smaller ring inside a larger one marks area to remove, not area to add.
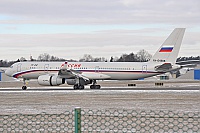
[[[64,78],[57,75],[41,75],[38,77],[38,84],[46,86],[58,86],[65,83]]]

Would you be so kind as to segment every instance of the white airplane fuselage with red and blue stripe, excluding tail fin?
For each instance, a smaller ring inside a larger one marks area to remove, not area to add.
[[[37,79],[41,75],[58,74],[64,62],[18,62],[6,71],[14,78]],[[148,62],[68,62],[67,69],[90,79],[134,80],[161,74]],[[95,76],[98,75],[98,76]]]

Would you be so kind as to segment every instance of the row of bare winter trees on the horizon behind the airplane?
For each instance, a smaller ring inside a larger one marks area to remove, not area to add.
[[[56,56],[52,56],[50,54],[44,53],[40,54],[37,59],[30,57],[30,60],[27,60],[24,57],[19,58],[17,61],[7,61],[0,60],[0,67],[9,67],[16,62],[22,61],[69,61],[69,62],[147,62],[151,59],[152,55],[149,54],[146,50],[142,49],[136,54],[133,52],[130,54],[122,54],[120,57],[111,56],[110,59],[106,59],[105,57],[92,57],[92,55],[85,54],[79,60],[66,60],[63,58],[58,58]],[[179,61],[187,61],[187,60],[200,60],[200,56],[197,57],[179,57],[177,58],[177,62]]]

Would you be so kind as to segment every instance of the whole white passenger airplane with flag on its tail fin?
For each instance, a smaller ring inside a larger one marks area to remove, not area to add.
[[[74,89],[100,89],[97,80],[138,80],[181,69],[176,59],[185,28],[175,28],[148,62],[17,62],[5,71],[6,75],[38,84],[59,86],[67,83]]]

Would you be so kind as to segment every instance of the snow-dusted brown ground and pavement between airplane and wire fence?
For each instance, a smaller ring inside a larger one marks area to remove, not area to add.
[[[160,82],[160,81],[159,81]],[[112,84],[111,84],[112,83]],[[0,114],[62,113],[83,109],[200,111],[200,82],[99,82],[101,90],[69,86],[41,87],[36,82],[21,90],[21,82],[0,82]],[[117,87],[116,87],[117,86]]]

